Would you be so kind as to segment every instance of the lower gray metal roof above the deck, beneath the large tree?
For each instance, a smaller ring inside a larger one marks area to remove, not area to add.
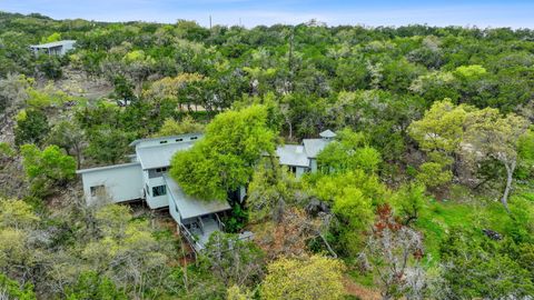
[[[171,200],[175,201],[176,207],[180,212],[181,219],[201,217],[230,209],[230,206],[226,200],[206,201],[196,199],[191,196],[186,194],[176,183],[176,181],[171,179],[168,174],[164,174],[164,179],[167,183],[167,189],[169,191]]]

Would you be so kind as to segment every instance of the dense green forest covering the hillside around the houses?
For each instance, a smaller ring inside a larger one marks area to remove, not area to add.
[[[533,121],[534,30],[0,12],[0,299],[532,299]],[[273,159],[326,129],[318,172]],[[170,174],[247,188],[204,254],[166,211],[85,203],[77,169],[199,131]]]

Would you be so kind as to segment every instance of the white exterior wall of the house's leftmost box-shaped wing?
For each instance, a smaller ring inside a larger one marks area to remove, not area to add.
[[[83,193],[88,204],[98,201],[91,196],[91,187],[105,186],[106,196],[115,203],[142,198],[142,171],[138,163],[112,166],[81,173]]]

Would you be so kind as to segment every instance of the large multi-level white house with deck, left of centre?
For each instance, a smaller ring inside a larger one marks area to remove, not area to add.
[[[206,201],[186,194],[168,176],[170,160],[202,136],[198,133],[136,140],[131,162],[79,170],[88,204],[108,200],[113,203],[145,200],[150,209],[168,208],[179,231],[196,251],[209,236],[222,230],[219,213],[230,209],[226,200]],[[243,234],[250,238],[250,232]]]

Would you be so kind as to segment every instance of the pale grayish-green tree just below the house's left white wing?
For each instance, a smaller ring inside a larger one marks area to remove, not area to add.
[[[81,246],[81,258],[90,270],[98,273],[101,281],[95,283],[119,296],[123,291],[128,298],[160,296],[164,292],[161,281],[169,273],[168,254],[176,253],[168,241],[156,239],[148,221],[135,220],[128,207],[100,207],[95,212],[93,222],[97,236]],[[90,274],[87,278],[89,282],[95,279]]]

